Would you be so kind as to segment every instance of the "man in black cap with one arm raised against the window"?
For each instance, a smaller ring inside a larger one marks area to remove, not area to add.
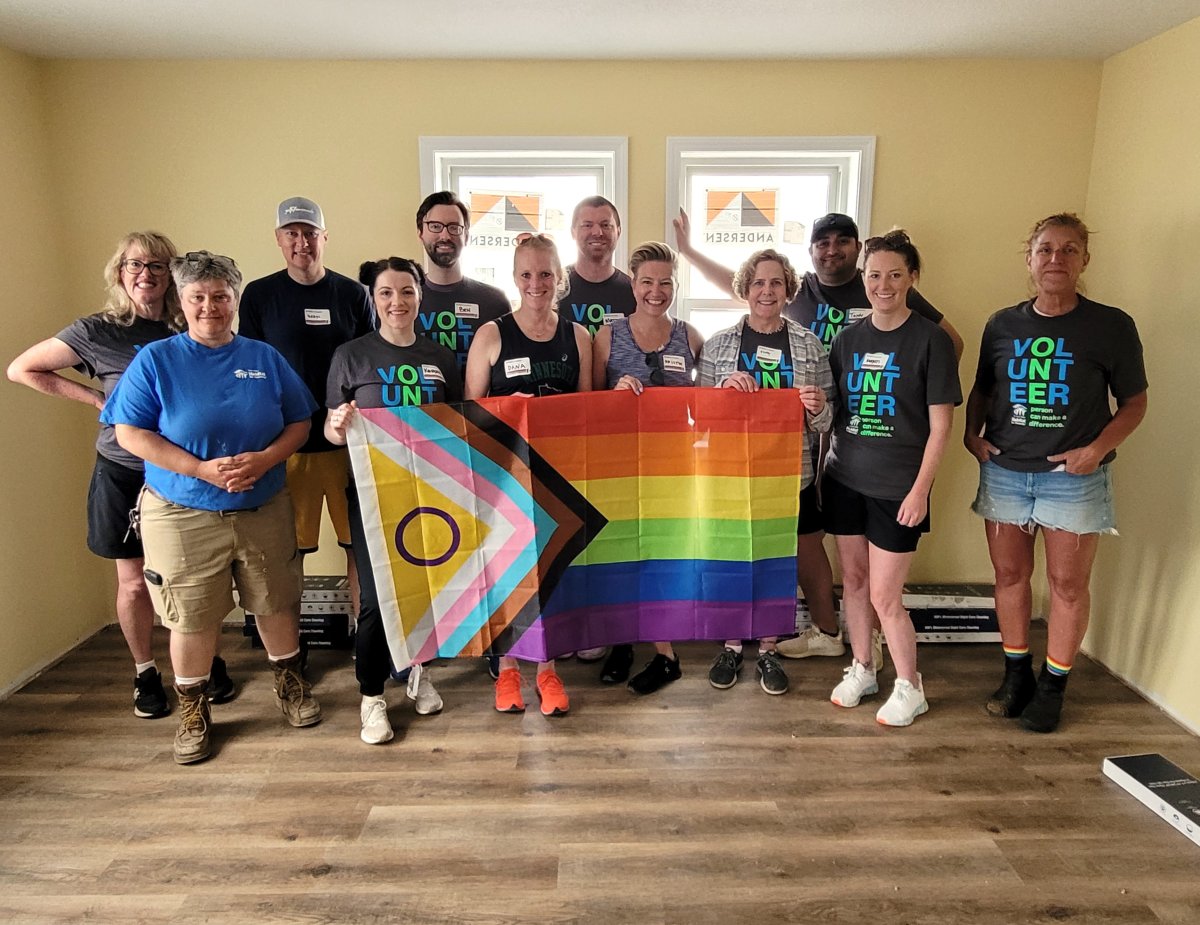
[[[732,295],[733,271],[692,246],[691,226],[688,214],[683,210],[674,220],[674,228],[676,247],[679,253],[686,257],[713,286]],[[829,212],[812,223],[809,242],[812,272],[804,274],[799,292],[784,308],[784,316],[804,325],[821,338],[826,353],[829,353],[833,338],[847,324],[864,318],[871,311],[863,286],[863,272],[858,269],[858,257],[862,252],[863,242],[858,239],[858,226],[848,215]],[[962,356],[962,338],[954,325],[916,289],[908,290],[908,307],[946,331],[954,343],[954,355]]]

